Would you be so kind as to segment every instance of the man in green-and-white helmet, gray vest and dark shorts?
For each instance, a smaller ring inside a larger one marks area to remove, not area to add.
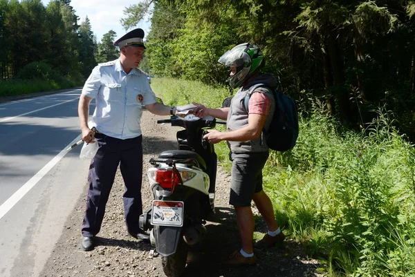
[[[252,44],[239,44],[225,52],[219,63],[231,70],[228,78],[232,88],[240,87],[232,98],[229,108],[206,108],[194,103],[197,108],[194,115],[210,115],[227,120],[226,131],[209,131],[204,136],[210,143],[228,141],[230,160],[232,160],[230,204],[237,213],[237,227],[242,247],[234,251],[225,261],[227,265],[253,265],[257,262],[254,255],[253,232],[255,220],[252,215],[251,201],[254,200],[259,213],[264,218],[268,233],[255,243],[255,248],[273,247],[284,241],[284,233],[275,220],[273,204],[262,189],[262,169],[268,159],[269,149],[263,137],[263,128],[268,128],[275,111],[275,100],[270,89],[277,86],[276,78],[269,74],[260,74],[265,59],[261,50]],[[251,86],[264,84],[255,89],[249,99],[246,111],[244,98]]]

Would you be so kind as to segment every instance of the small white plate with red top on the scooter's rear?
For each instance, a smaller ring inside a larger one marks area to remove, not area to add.
[[[151,225],[183,226],[183,202],[153,200]]]

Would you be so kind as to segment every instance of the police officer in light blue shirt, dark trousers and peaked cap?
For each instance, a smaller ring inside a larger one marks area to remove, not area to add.
[[[120,48],[120,58],[93,68],[80,96],[78,114],[82,139],[99,146],[89,166],[89,191],[82,224],[84,251],[94,248],[94,238],[100,231],[118,164],[125,184],[127,230],[138,240],[149,239],[138,227],[142,213],[142,105],[155,115],[174,115],[176,108],[156,102],[148,75],[137,68],[145,52],[143,37],[144,31],[138,28],[118,39],[114,46]],[[95,132],[87,124],[92,99],[95,99]]]

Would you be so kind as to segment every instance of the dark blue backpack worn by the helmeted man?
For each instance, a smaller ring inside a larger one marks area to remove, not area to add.
[[[244,106],[248,112],[249,98],[259,87],[265,84],[255,84],[250,87],[244,99]],[[275,112],[268,131],[263,130],[266,144],[270,149],[284,152],[293,149],[298,137],[298,113],[293,98],[288,97],[279,90],[268,88],[273,92],[275,99]],[[259,91],[261,92],[261,91]]]

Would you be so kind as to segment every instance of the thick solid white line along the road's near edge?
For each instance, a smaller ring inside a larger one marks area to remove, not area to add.
[[[50,169],[53,169],[53,166],[55,166],[55,164],[62,160],[62,157],[64,157],[66,153],[68,153],[66,149],[68,149],[68,147],[72,146],[75,142],[80,140],[80,138],[81,135],[78,135],[75,138],[75,140],[73,140],[70,144],[65,146],[65,148],[62,151],[60,151],[59,154],[57,154],[52,160],[50,160],[50,162],[48,162],[48,164],[46,164],[41,170],[39,170],[39,172],[37,172],[35,176],[30,178],[30,180],[28,180],[26,184],[24,184],[20,189],[18,189],[12,196],[10,196],[10,198],[8,198],[6,202],[1,204],[0,219],[3,218],[3,216],[5,216],[6,213],[8,213],[8,211],[10,211],[10,209],[12,209],[12,207],[15,206],[15,204],[17,204],[17,202],[19,202],[19,200],[21,200],[21,198],[23,198],[24,195],[28,193],[28,191],[30,191],[30,189],[35,187],[35,184],[42,180],[42,178],[44,178],[44,175],[46,175],[50,171]]]

